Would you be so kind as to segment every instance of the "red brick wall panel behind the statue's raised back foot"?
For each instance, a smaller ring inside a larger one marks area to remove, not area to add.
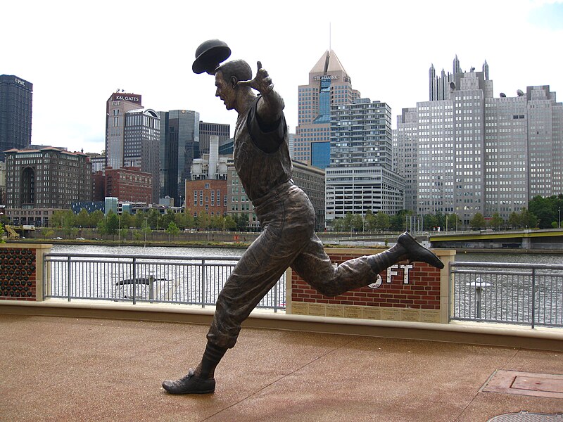
[[[329,254],[332,262],[341,264],[357,255]],[[409,264],[400,262],[399,264]],[[410,309],[440,309],[440,270],[424,262],[412,262],[409,284],[403,283],[403,269],[393,269],[398,275],[387,283],[387,271],[381,272],[379,288],[362,287],[329,298],[309,286],[295,271],[291,272],[292,302],[325,303],[331,305],[360,305]],[[374,280],[375,282],[375,280]]]

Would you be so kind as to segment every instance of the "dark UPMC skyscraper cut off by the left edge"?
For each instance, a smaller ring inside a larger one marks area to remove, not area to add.
[[[0,161],[4,151],[31,143],[33,84],[14,75],[0,75]]]

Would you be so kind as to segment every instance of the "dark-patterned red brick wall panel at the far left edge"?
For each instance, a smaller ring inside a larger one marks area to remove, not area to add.
[[[36,300],[36,250],[0,248],[0,300]]]

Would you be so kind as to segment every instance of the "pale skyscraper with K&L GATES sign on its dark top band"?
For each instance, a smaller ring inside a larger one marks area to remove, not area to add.
[[[139,108],[143,108],[139,94],[125,94],[118,90],[106,101],[106,166],[123,167],[125,113]]]

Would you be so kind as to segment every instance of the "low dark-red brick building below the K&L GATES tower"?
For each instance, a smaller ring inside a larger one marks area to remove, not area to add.
[[[122,201],[152,203],[153,175],[140,167],[106,167],[106,196]]]

